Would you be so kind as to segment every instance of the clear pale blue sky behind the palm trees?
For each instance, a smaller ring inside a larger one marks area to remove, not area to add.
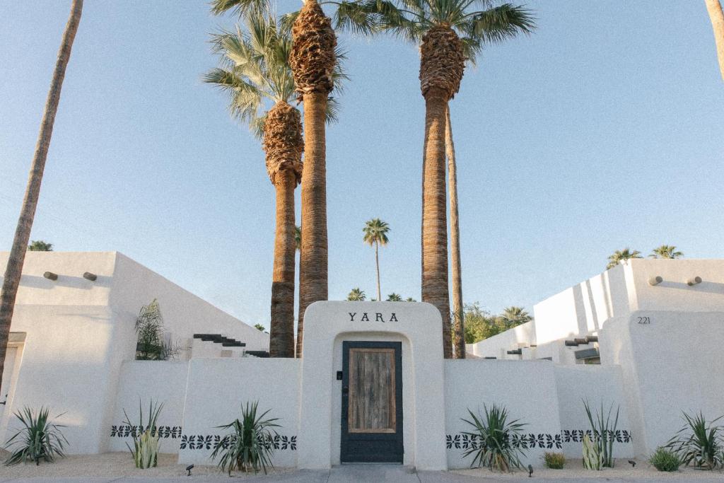
[[[530,309],[626,246],[724,258],[724,83],[704,2],[528,4],[537,32],[487,49],[451,104],[466,302]],[[0,0],[0,250],[69,6]],[[258,141],[200,80],[216,64],[208,33],[232,21],[203,1],[85,2],[31,238],[122,251],[268,327],[274,188]],[[374,294],[361,230],[380,217],[382,290],[419,300],[417,50],[341,41],[352,80],[327,132],[329,298]]]

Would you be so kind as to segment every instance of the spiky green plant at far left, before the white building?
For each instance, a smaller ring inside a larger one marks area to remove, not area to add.
[[[22,429],[5,443],[5,449],[12,452],[5,461],[6,466],[25,461],[34,461],[38,465],[41,459],[52,462],[56,456],[64,456],[63,447],[68,443],[60,430],[64,426],[51,423],[49,413],[49,408],[41,408],[35,412],[27,406],[15,413]],[[59,416],[62,414],[56,418]]]

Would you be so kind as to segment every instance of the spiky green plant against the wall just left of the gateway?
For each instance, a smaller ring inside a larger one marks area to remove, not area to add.
[[[222,429],[232,429],[232,434],[227,434],[216,443],[214,453],[211,453],[211,459],[216,460],[219,457],[219,467],[231,472],[235,470],[249,471],[253,469],[256,473],[259,469],[264,470],[271,464],[271,456],[274,455],[274,445],[269,441],[277,434],[272,429],[279,427],[274,421],[277,418],[264,419],[269,411],[264,411],[260,415],[258,412],[258,401],[256,403],[246,403],[241,408],[241,420],[235,419],[230,424],[219,426]]]

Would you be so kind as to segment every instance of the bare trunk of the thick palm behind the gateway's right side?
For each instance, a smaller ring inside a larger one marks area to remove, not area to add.
[[[430,88],[425,96],[422,300],[442,317],[442,352],[452,358],[450,293],[447,287],[447,196],[445,190],[445,112],[447,94]]]

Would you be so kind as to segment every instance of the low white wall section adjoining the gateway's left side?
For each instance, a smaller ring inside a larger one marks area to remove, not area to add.
[[[214,443],[230,432],[217,427],[241,419],[242,404],[258,401],[281,426],[274,466],[296,466],[299,359],[193,358],[189,364],[179,463],[215,464],[209,459]]]

